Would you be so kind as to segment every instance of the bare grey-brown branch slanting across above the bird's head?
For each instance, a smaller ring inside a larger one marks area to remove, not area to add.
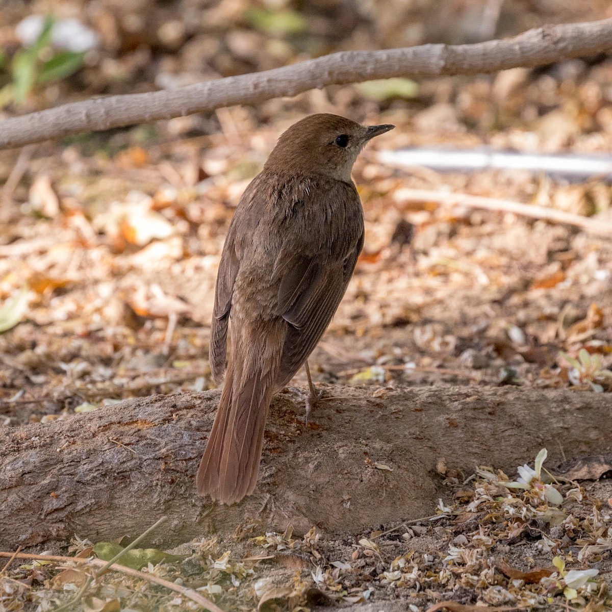
[[[612,18],[543,26],[507,40],[475,45],[420,45],[386,51],[342,51],[274,70],[177,89],[75,102],[0,122],[0,149],[89,130],[171,119],[236,104],[293,96],[328,85],[392,76],[497,72],[600,53],[612,48]]]

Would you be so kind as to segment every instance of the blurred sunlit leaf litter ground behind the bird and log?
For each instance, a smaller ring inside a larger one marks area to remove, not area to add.
[[[7,0],[0,118],[334,51],[473,43],[605,17],[606,0]],[[612,388],[609,238],[407,191],[503,198],[603,223],[612,220],[605,177],[442,173],[379,155],[482,146],[608,154],[612,59],[600,54],[335,86],[0,152],[0,425],[212,387],[209,319],[233,209],[277,136],[318,112],[397,129],[354,171],[365,248],[313,354],[317,381]]]

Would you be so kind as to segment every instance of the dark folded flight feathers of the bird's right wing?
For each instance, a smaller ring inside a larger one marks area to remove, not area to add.
[[[361,231],[343,259],[296,255],[286,259],[278,290],[277,314],[289,323],[277,387],[284,387],[312,353],[327,329],[364,246]]]

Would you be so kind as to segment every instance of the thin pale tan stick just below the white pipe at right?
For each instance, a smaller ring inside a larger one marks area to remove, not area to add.
[[[571,212],[558,211],[554,208],[520,204],[512,200],[499,200],[498,198],[483,198],[468,193],[444,193],[428,189],[400,189],[395,198],[401,202],[438,202],[440,204],[460,204],[470,208],[481,208],[494,212],[512,212],[522,217],[543,219],[552,223],[566,223],[574,225],[592,234],[599,236],[612,236],[612,223],[595,220]]]

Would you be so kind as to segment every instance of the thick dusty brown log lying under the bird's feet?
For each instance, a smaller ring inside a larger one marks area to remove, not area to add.
[[[607,394],[477,386],[327,390],[338,397],[315,411],[308,429],[300,394],[274,399],[258,486],[233,506],[195,491],[218,390],[136,398],[46,425],[0,428],[0,547],[65,542],[74,534],[94,542],[133,537],[152,512],[168,517],[151,536],[157,547],[231,533],[255,516],[271,531],[293,524],[303,533],[313,525],[358,532],[430,515],[447,494],[432,477],[442,453],[451,452],[453,468],[466,472],[495,465],[513,473],[545,446],[558,459],[558,447],[568,458],[610,452],[610,425],[602,426],[610,422]],[[365,463],[364,452],[392,471]]]

